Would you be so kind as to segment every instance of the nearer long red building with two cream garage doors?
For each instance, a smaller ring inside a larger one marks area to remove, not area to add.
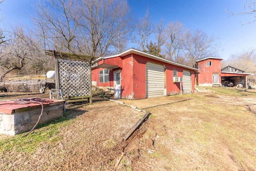
[[[129,49],[92,62],[92,85],[114,97],[145,99],[194,92],[196,68]]]

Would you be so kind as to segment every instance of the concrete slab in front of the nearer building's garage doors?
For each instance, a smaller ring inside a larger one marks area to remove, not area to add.
[[[146,109],[146,108],[155,107],[158,105],[175,103],[178,101],[185,101],[192,98],[193,97],[186,97],[186,96],[163,96],[163,97],[152,97],[152,98],[140,99],[140,100],[116,99],[116,101],[123,102],[128,105],[136,106],[138,109]]]

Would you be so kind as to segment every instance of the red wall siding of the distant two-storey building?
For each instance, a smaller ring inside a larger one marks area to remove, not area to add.
[[[198,84],[212,84],[212,73],[219,74],[219,83],[221,83],[221,60],[210,58],[198,62],[199,74],[197,76]],[[207,62],[212,62],[212,66],[207,66]]]

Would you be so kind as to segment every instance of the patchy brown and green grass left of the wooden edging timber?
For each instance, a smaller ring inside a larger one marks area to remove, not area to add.
[[[140,115],[111,101],[70,105],[63,118],[26,137],[0,135],[0,170],[112,170]]]

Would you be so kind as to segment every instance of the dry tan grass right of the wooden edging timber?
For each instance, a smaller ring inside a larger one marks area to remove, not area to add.
[[[246,107],[256,105],[254,92],[228,89],[232,98],[220,90],[150,108],[147,131],[136,143],[154,152],[142,151],[146,160],[140,158],[134,170],[142,163],[150,163],[143,170],[256,170],[256,110]]]

